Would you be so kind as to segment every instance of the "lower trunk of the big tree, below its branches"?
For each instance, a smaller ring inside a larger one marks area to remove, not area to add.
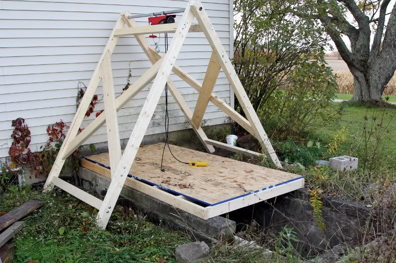
[[[384,85],[382,85],[380,72],[374,70],[374,74],[367,74],[356,69],[351,69],[350,72],[353,75],[354,87],[352,101],[381,101]]]

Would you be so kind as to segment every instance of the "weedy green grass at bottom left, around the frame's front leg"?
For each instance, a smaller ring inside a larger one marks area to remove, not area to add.
[[[191,241],[186,234],[149,223],[120,205],[106,230],[101,230],[94,223],[98,211],[61,190],[45,194],[14,188],[1,197],[0,211],[31,199],[45,205],[24,219],[14,262],[175,262],[176,245]]]

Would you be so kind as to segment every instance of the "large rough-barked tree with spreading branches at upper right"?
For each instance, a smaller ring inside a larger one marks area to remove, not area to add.
[[[352,101],[380,101],[396,70],[396,4],[387,13],[391,0],[314,1],[318,19],[353,75]],[[354,22],[347,21],[348,11]],[[350,50],[342,35],[349,38]]]

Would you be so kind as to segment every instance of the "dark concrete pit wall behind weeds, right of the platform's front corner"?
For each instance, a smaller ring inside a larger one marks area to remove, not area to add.
[[[275,233],[284,226],[293,228],[298,241],[294,246],[302,256],[315,256],[341,243],[356,244],[361,238],[364,218],[371,209],[361,202],[341,198],[322,198],[322,220],[318,226],[306,188],[278,196],[254,207],[252,219]]]

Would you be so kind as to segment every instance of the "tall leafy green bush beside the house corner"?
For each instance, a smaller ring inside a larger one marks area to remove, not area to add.
[[[300,133],[334,116],[328,38],[313,16],[293,0],[234,1],[234,66],[254,110],[278,134]],[[243,114],[238,103],[236,109]]]

